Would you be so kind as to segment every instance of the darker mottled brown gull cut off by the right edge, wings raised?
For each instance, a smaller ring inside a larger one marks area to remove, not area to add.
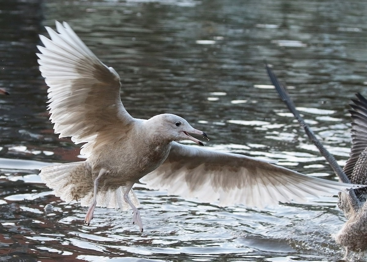
[[[338,165],[334,156],[327,151],[319,139],[305,123],[295,108],[287,89],[281,85],[271,68],[266,65],[269,77],[279,93],[281,99],[286,103],[288,109],[294,114],[301,126],[305,129],[310,140],[317,146],[339,180],[344,183],[367,184],[367,100],[357,93],[357,99],[352,99],[353,104],[349,110],[352,116],[352,149],[350,157],[343,169]],[[348,193],[340,192],[338,206],[343,210],[348,221],[335,234],[338,244],[345,247],[344,259],[348,258],[350,251],[364,252],[367,249],[367,187],[350,190]]]

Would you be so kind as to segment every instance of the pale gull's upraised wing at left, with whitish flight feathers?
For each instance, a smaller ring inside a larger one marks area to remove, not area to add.
[[[116,133],[123,134],[134,121],[121,102],[119,75],[103,64],[66,22],[56,22],[58,33],[46,29],[51,40],[40,35],[44,47],[37,46],[41,52],[37,56],[50,87],[48,108],[55,133],[71,137],[76,144],[88,142],[81,153],[96,143],[116,139]]]

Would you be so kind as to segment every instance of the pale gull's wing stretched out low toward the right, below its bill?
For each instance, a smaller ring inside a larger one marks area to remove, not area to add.
[[[285,167],[234,153],[172,143],[167,160],[142,178],[148,188],[229,206],[263,207],[333,195],[353,185],[309,177]]]

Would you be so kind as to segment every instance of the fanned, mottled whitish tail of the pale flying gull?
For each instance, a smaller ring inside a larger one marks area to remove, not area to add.
[[[65,202],[76,200],[82,206],[90,206],[94,185],[85,161],[43,167],[40,177],[47,187],[54,190],[56,197]],[[126,210],[130,207],[124,201],[124,193],[125,187],[106,188],[102,185],[97,190],[97,206]],[[130,190],[129,198],[135,206],[139,205],[133,190]]]

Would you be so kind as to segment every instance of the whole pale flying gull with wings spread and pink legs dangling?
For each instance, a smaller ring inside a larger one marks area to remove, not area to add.
[[[51,40],[40,36],[40,71],[48,89],[50,120],[59,137],[86,143],[85,161],[44,167],[40,176],[64,201],[133,210],[133,223],[143,231],[132,186],[144,177],[148,188],[195,197],[219,205],[246,206],[304,201],[332,195],[350,184],[305,176],[245,155],[206,150],[175,141],[204,135],[173,114],[148,120],[130,116],[120,98],[120,77],[104,65],[67,23],[56,22]]]

